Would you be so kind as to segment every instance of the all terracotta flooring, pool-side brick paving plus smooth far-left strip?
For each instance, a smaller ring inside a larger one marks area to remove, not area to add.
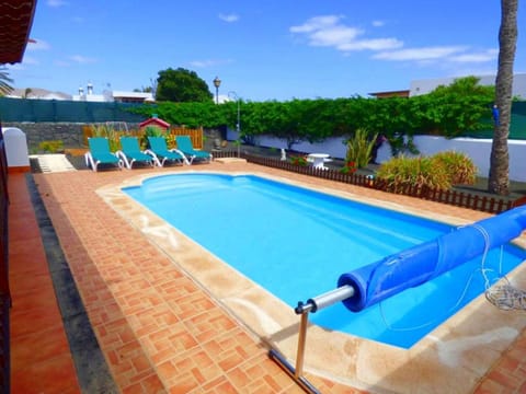
[[[187,167],[34,174],[118,390],[122,393],[301,393],[268,359],[268,349],[258,337],[95,193],[102,186],[142,172],[161,174],[182,170]],[[461,208],[250,164],[213,163],[194,165],[192,170],[266,172],[470,221],[485,217]],[[9,187],[12,392],[80,392],[24,175],[11,174]],[[473,392],[526,392],[525,354],[523,332]],[[307,378],[322,393],[375,391],[350,387],[310,373]]]

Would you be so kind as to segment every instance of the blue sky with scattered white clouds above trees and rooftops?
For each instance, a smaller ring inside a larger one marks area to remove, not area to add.
[[[515,72],[526,70],[521,26]],[[249,101],[405,90],[496,72],[499,0],[38,0],[15,88],[76,94],[195,71]]]

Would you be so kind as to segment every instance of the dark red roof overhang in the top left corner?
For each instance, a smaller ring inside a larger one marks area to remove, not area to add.
[[[21,62],[36,0],[0,0],[0,65]]]

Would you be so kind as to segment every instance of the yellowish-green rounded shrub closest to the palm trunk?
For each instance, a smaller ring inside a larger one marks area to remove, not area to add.
[[[462,152],[445,151],[433,155],[436,165],[445,169],[451,185],[473,185],[478,169],[473,161]]]

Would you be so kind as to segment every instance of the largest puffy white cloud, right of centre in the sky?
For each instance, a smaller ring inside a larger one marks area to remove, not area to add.
[[[322,15],[309,19],[301,25],[291,26],[290,32],[307,36],[309,45],[334,47],[341,51],[386,50],[403,46],[397,38],[362,38],[365,32],[342,23],[343,16]]]

